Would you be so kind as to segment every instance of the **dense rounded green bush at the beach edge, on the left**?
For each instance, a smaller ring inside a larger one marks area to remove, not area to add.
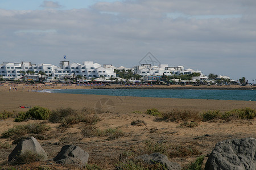
[[[36,120],[48,120],[51,111],[47,108],[33,107],[26,112],[26,117],[32,117]]]

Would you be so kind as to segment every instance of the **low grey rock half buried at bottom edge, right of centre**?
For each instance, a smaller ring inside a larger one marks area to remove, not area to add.
[[[170,169],[170,170],[180,170],[181,169],[179,164],[170,162],[170,160],[167,158],[166,155],[163,155],[160,153],[154,153],[151,155],[147,155],[147,154],[141,155],[141,156],[138,156],[137,159],[142,160],[146,164],[160,163],[160,164],[164,165],[164,167],[166,167],[167,169]]]

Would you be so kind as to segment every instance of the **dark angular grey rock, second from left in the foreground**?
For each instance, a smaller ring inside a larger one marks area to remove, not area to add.
[[[65,145],[53,160],[59,164],[86,165],[88,158],[88,152],[79,146]]]

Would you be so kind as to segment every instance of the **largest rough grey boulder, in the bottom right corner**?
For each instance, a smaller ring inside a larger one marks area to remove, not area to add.
[[[216,144],[205,169],[256,169],[256,140],[228,139]]]

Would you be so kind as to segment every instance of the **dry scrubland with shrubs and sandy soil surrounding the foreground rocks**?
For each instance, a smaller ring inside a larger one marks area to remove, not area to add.
[[[42,143],[49,158],[56,156],[63,145],[77,145],[88,151],[90,157],[85,169],[164,169],[160,164],[146,165],[135,160],[139,155],[154,152],[167,155],[183,169],[200,169],[206,161],[204,156],[210,153],[215,143],[226,138],[241,138],[241,134],[245,137],[251,135],[249,130],[238,134],[236,129],[237,126],[252,127],[256,111],[242,108],[227,112],[179,109],[160,112],[152,108],[144,113],[108,112],[106,115],[104,117],[104,113],[101,113],[100,118],[94,109],[89,108],[49,111],[47,108],[34,107],[27,112],[4,111],[0,113],[0,119],[15,121],[15,126],[2,131],[0,167],[79,169],[60,166],[52,160],[40,162],[40,155],[31,153],[21,155],[19,162],[6,162],[16,143],[34,136]],[[221,133],[216,125],[234,129],[229,128],[229,133]],[[194,134],[189,134],[189,131]],[[255,135],[251,137],[255,138]]]

